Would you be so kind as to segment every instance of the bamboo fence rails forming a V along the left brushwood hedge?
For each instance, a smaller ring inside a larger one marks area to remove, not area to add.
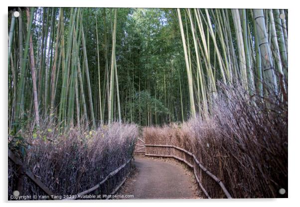
[[[22,182],[23,176],[26,176],[29,178],[29,180],[31,180],[35,185],[38,186],[39,189],[41,189],[43,192],[45,192],[48,196],[49,199],[51,200],[60,200],[58,199],[58,197],[55,196],[54,193],[52,193],[48,187],[46,187],[43,182],[37,177],[35,176],[29,169],[26,168],[26,166],[21,162],[21,160],[19,158],[17,158],[17,156],[8,149],[8,158],[17,166],[18,170],[18,180],[16,181],[17,183]],[[116,170],[112,171],[111,173],[109,173],[102,181],[100,181],[100,183],[98,183],[97,185],[95,185],[94,187],[80,192],[76,195],[70,196],[70,198],[67,199],[62,199],[62,200],[76,200],[78,199],[80,196],[84,196],[87,195],[88,193],[91,193],[97,189],[99,189],[101,187],[101,185],[105,185],[104,189],[106,189],[106,193],[108,195],[114,195],[119,188],[124,184],[124,182],[126,181],[126,179],[128,178],[131,169],[132,169],[132,163],[133,163],[133,157],[131,157],[130,159],[128,159],[126,161],[126,163],[124,163],[123,165],[121,165],[119,168],[117,168]],[[126,170],[126,169],[128,170]],[[124,171],[122,171],[123,169],[125,169]],[[128,172],[126,172],[128,171]],[[113,180],[113,189],[110,189],[110,179],[114,179],[114,176],[117,175],[118,173],[122,173],[122,177],[124,177],[124,179],[121,182],[118,182],[118,179],[115,178],[115,180]],[[20,181],[22,180],[22,181]],[[116,182],[117,180],[117,182]],[[22,193],[22,189],[18,189],[20,191],[20,193]],[[110,197],[107,196],[106,199],[109,199]]]

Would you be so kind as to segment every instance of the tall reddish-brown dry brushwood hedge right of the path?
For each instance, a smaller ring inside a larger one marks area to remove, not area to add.
[[[145,128],[146,143],[192,152],[233,198],[287,198],[279,189],[288,189],[288,103],[275,96],[249,97],[240,87],[223,91],[206,120]],[[200,183],[212,198],[225,198],[207,175],[202,173]]]

